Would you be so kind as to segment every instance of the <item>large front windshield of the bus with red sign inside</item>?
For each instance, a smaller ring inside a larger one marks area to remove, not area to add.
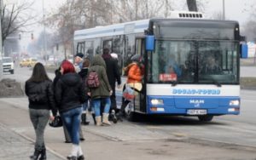
[[[239,83],[238,42],[156,40],[148,83]]]

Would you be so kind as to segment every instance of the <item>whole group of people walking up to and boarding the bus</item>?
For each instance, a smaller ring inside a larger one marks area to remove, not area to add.
[[[131,101],[123,98],[120,109],[116,106],[115,87],[120,89],[117,54],[110,54],[103,49],[103,54],[96,54],[92,60],[84,59],[84,54],[75,55],[75,66],[63,60],[55,71],[53,82],[47,76],[42,63],[37,63],[32,76],[26,81],[25,92],[29,101],[29,116],[36,134],[32,160],[46,160],[44,129],[50,122],[61,117],[65,142],[72,143],[67,159],[84,160],[84,153],[79,145],[84,140],[82,125],[88,125],[86,111],[94,117],[96,126],[110,126],[113,118],[122,119],[125,106]],[[125,88],[136,93],[142,90],[143,64],[140,55],[131,57],[131,64],[125,68],[127,82]],[[114,113],[114,114],[113,114]],[[115,117],[115,113],[117,117]],[[113,121],[114,122],[114,121]]]

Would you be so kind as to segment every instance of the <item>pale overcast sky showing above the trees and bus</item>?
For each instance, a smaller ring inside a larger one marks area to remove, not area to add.
[[[56,12],[56,9],[61,6],[61,3],[66,3],[67,0],[34,0],[33,9],[38,12],[38,19],[43,20],[43,1],[45,13],[49,14]],[[156,0],[155,0],[156,1]],[[223,0],[197,0],[198,2],[204,3],[205,7],[205,17],[210,18],[213,14],[219,14],[223,12]],[[22,3],[24,0],[3,0],[4,3]],[[26,0],[26,2],[33,2],[33,0]],[[172,0],[176,3],[175,10],[183,10],[186,8],[184,5],[186,0]],[[183,5],[178,5],[178,3],[183,3]],[[250,13],[252,12],[251,6],[256,4],[255,0],[224,0],[225,3],[225,17],[227,20],[237,20],[240,26],[245,24],[250,18]],[[35,37],[37,34],[43,30],[43,26],[34,27]]]

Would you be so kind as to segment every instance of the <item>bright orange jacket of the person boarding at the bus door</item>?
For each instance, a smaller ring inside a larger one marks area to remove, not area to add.
[[[132,62],[127,66],[128,75],[127,83],[141,83],[143,79],[143,68],[136,62]]]

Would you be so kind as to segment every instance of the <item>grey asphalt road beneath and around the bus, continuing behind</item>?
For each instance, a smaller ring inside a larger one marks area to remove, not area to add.
[[[28,68],[18,68],[15,75],[6,74],[3,77],[25,82],[31,74],[32,71]],[[248,75],[253,75],[253,72]],[[49,73],[49,77],[53,78],[54,74]],[[195,143],[206,140],[212,143],[220,142],[219,146],[223,146],[224,143],[256,148],[254,97],[256,91],[241,90],[241,115],[214,117],[210,123],[201,123],[195,117],[143,117],[140,122],[125,121],[122,125],[115,125],[111,130],[95,128],[93,125],[87,129],[91,133],[113,140],[168,140],[174,136],[183,140],[193,140]]]

